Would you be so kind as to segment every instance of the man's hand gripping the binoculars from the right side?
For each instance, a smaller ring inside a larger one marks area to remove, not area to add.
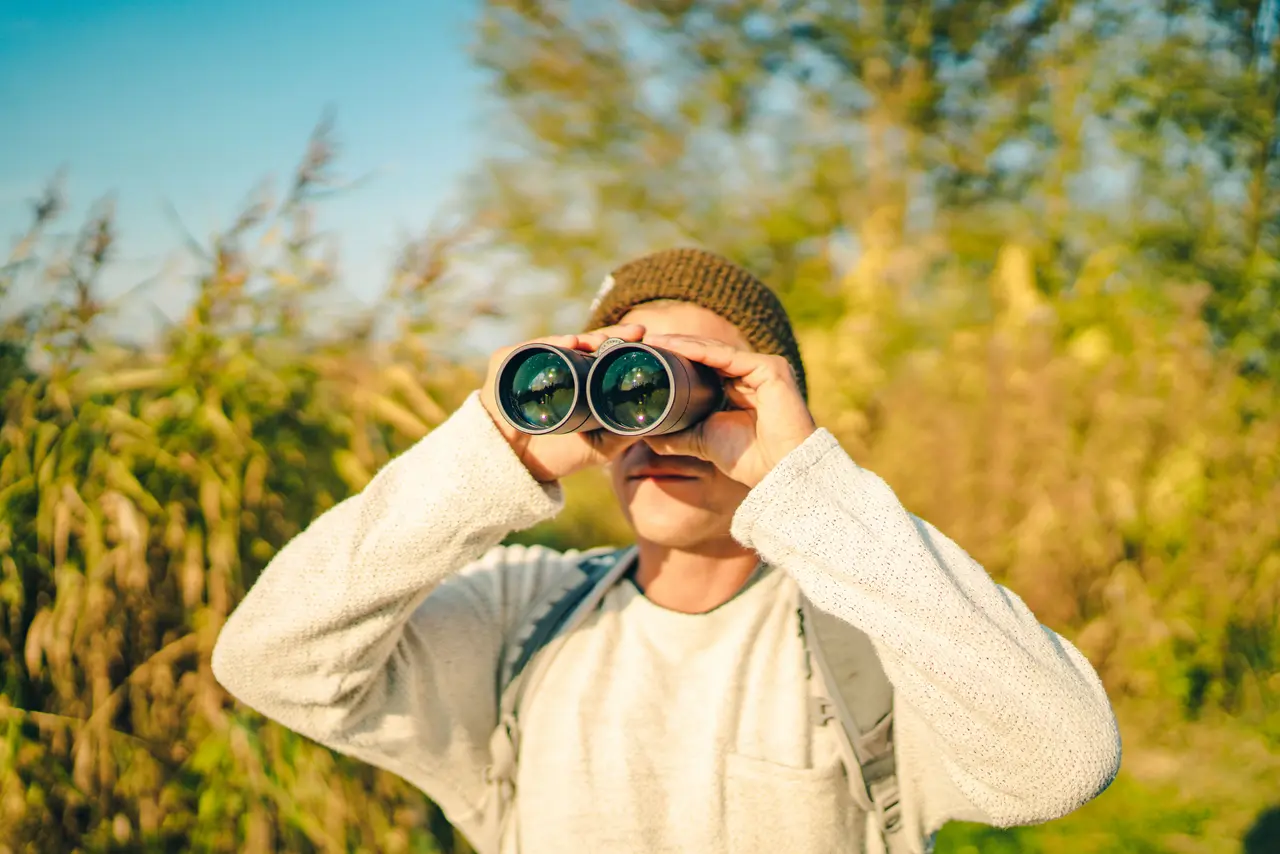
[[[649,335],[644,343],[701,362],[726,379],[735,407],[694,426],[644,438],[658,453],[707,460],[733,480],[755,487],[782,457],[813,435],[817,425],[782,356],[765,356],[692,335]]]

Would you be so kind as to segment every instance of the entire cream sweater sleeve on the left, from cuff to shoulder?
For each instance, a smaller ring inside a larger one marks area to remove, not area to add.
[[[275,556],[219,635],[216,679],[466,827],[483,808],[503,639],[572,557],[498,543],[561,501],[472,394]]]

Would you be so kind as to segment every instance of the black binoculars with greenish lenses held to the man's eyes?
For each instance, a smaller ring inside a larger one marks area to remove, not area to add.
[[[525,344],[503,360],[495,383],[503,417],[532,435],[600,428],[622,435],[676,433],[726,401],[724,382],[707,365],[621,338],[594,353]]]

